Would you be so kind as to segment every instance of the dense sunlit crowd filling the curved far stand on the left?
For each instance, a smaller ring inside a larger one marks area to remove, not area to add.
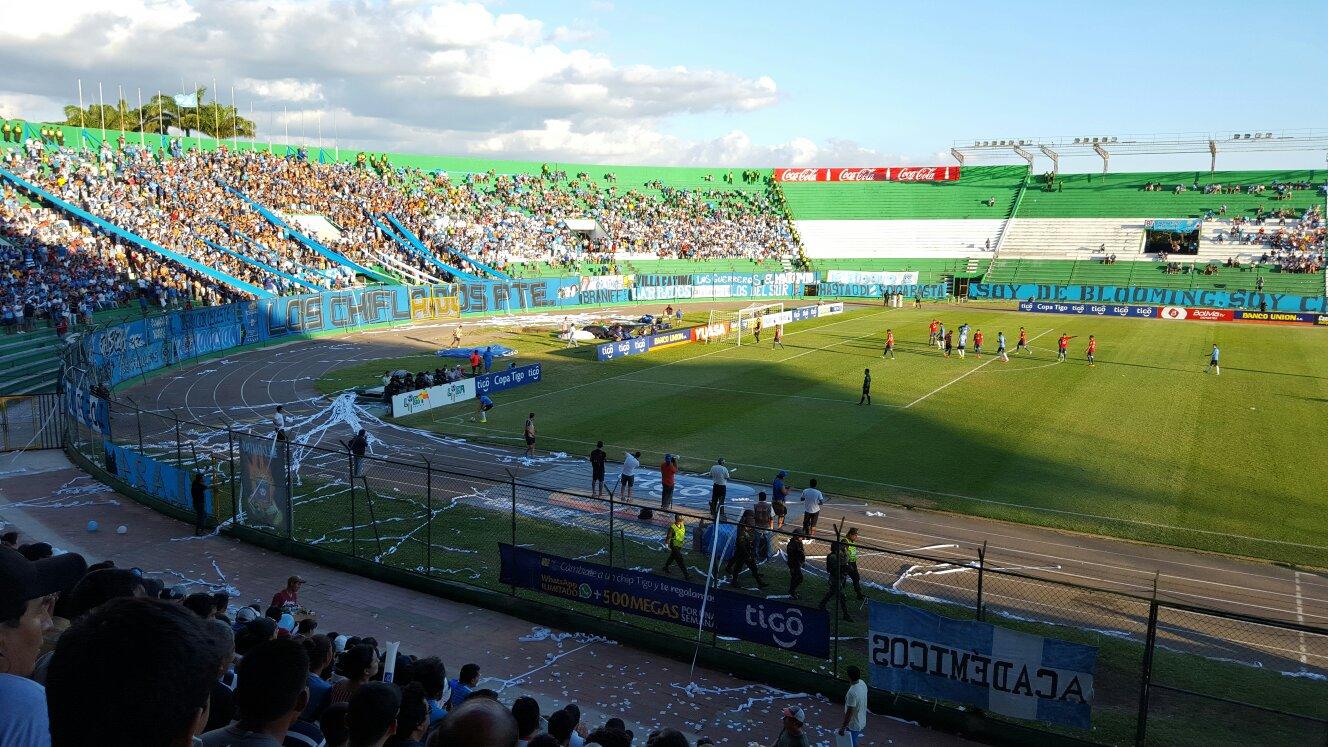
[[[765,190],[679,189],[657,181],[624,189],[614,174],[596,179],[586,171],[450,175],[393,169],[385,160],[316,163],[304,152],[201,152],[178,141],[165,153],[122,141],[92,150],[36,137],[9,149],[5,166],[97,218],[274,294],[360,282],[335,255],[309,246],[292,215],[325,219],[331,230],[317,241],[332,253],[413,279],[456,279],[446,267],[485,276],[487,267],[510,271],[527,262],[591,262],[611,271],[619,255],[777,259],[795,246],[773,182]],[[741,178],[760,181],[756,171]],[[737,177],[724,181],[736,183]],[[291,230],[242,194],[282,215]],[[8,214],[0,218],[13,222]],[[82,234],[82,243],[102,249],[101,257],[122,274],[161,284],[167,295],[174,290],[197,302],[234,295],[155,253],[90,238],[85,227],[60,218],[42,222],[62,223],[69,234],[48,235],[53,247]],[[422,257],[414,239],[446,267]]]

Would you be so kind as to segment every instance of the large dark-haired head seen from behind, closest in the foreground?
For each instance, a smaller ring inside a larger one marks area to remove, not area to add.
[[[222,661],[207,625],[147,598],[112,599],[76,621],[46,675],[52,747],[190,744]]]

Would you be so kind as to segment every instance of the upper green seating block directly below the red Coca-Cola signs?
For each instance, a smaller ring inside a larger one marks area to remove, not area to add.
[[[1027,166],[965,166],[954,182],[785,183],[789,211],[801,221],[996,218],[1009,215]],[[996,198],[988,207],[987,199]]]

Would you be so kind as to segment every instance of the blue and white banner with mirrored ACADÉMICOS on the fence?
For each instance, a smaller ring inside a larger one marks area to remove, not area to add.
[[[867,655],[872,687],[1092,726],[1093,646],[871,602]]]

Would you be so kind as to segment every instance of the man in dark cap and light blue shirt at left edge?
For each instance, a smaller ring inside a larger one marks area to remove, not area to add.
[[[73,553],[32,562],[0,548],[0,744],[48,744],[46,693],[28,679],[58,594],[88,564]]]

